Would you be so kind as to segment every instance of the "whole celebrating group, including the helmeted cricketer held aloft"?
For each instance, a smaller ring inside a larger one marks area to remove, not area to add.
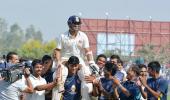
[[[70,16],[67,24],[52,57],[30,62],[7,54],[0,63],[0,100],[167,100],[158,61],[126,70],[118,55],[107,60],[100,54],[94,61],[80,17]]]

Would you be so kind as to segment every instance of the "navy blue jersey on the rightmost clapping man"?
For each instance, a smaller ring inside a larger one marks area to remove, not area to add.
[[[161,92],[160,98],[155,98],[147,89],[145,88],[145,91],[147,92],[147,100],[167,100],[167,92],[168,92],[168,82],[167,80],[163,79],[163,77],[159,77],[157,79],[155,78],[149,78],[147,80],[148,86],[153,89],[154,91]]]

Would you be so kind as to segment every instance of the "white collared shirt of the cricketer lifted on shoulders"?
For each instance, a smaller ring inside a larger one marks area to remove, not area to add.
[[[83,57],[84,48],[89,48],[89,40],[84,32],[79,31],[75,38],[69,31],[61,34],[57,41],[57,48],[61,49],[61,58],[68,59],[70,56]]]

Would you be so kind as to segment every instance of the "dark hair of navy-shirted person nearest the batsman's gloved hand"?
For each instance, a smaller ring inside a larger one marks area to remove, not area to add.
[[[114,75],[116,74],[117,67],[116,67],[115,64],[107,61],[104,68],[105,68],[107,71],[111,71],[111,72],[112,72],[112,76],[114,76]]]

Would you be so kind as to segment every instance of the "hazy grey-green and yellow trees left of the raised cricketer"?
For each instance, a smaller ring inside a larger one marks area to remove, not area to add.
[[[43,33],[30,25],[25,30],[17,23],[9,26],[0,18],[0,56],[9,51],[17,52],[25,58],[41,58],[44,54],[51,54],[56,47],[54,40],[43,43]]]

